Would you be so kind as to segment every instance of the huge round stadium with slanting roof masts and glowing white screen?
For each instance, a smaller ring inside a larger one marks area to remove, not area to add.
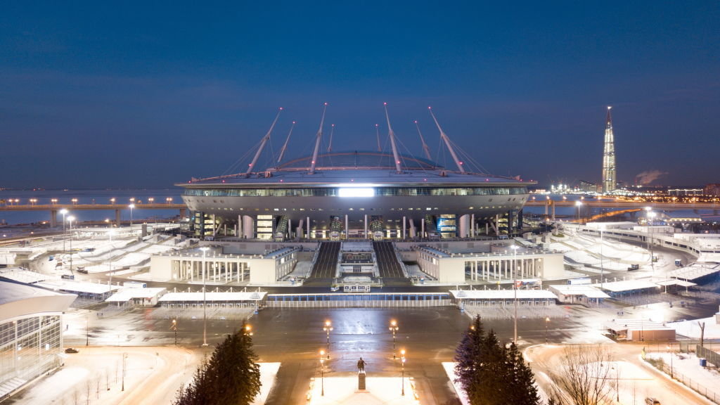
[[[447,239],[521,228],[527,186],[534,183],[469,172],[437,121],[456,169],[398,153],[389,117],[392,151],[333,152],[328,147],[327,153],[319,153],[324,117],[323,111],[312,156],[282,162],[284,147],[276,164],[254,170],[276,117],[247,172],[177,184],[194,211],[197,235]],[[428,150],[424,140],[423,148]]]

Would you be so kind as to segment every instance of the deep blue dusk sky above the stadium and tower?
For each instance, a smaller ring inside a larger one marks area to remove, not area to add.
[[[274,151],[297,120],[307,154],[323,102],[334,150],[373,148],[388,102],[436,155],[432,105],[487,171],[541,184],[599,182],[611,104],[618,179],[720,182],[719,21],[717,1],[6,1],[0,187],[222,174],[277,107]]]

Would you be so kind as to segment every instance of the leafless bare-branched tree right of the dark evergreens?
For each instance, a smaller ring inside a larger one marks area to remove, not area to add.
[[[559,365],[549,373],[554,381],[550,396],[558,405],[597,405],[613,401],[616,376],[611,373],[613,360],[603,345],[565,347]]]

